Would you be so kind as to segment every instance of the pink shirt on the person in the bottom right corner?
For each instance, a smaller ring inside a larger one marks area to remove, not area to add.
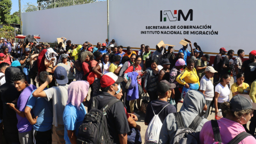
[[[220,127],[220,136],[222,143],[228,143],[233,138],[236,137],[237,134],[241,132],[245,132],[243,125],[231,121],[227,118],[221,118],[218,120],[218,125]],[[200,143],[207,143],[212,144],[214,142],[214,135],[212,130],[211,121],[208,121],[204,124],[201,132],[200,132]],[[245,143],[256,143],[256,139],[252,136],[248,136],[243,139],[238,144],[245,144]]]

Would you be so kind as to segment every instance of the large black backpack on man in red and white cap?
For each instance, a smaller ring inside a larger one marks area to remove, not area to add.
[[[110,138],[105,115],[107,115],[106,111],[111,106],[121,101],[112,99],[101,109],[98,109],[97,100],[95,98],[96,97],[92,98],[91,110],[85,115],[84,121],[79,127],[76,140],[77,144],[113,143],[113,140]]]

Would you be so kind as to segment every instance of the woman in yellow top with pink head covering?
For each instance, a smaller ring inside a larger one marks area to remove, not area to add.
[[[182,71],[182,73],[176,78],[176,81],[183,86],[182,88],[182,98],[185,97],[186,93],[189,90],[198,90],[199,89],[199,78],[196,73],[195,61],[193,59],[187,60],[188,67]]]

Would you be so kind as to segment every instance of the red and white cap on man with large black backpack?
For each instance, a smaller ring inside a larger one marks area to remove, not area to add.
[[[109,72],[105,75],[103,75],[100,78],[100,86],[101,87],[108,87],[114,83],[121,83],[124,81],[124,78],[121,76],[117,76],[112,72]]]

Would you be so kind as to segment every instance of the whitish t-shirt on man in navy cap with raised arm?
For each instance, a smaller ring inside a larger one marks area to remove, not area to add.
[[[63,125],[63,111],[65,109],[66,103],[68,101],[68,84],[53,86],[50,89],[44,90],[46,94],[46,100],[50,101],[52,99],[53,105],[53,121],[52,125],[58,126],[58,124]]]

